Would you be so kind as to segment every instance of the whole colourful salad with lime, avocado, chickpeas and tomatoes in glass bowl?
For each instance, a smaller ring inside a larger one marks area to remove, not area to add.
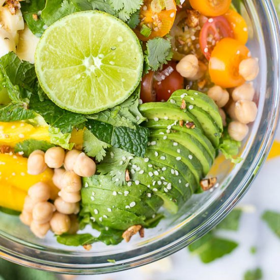
[[[259,66],[238,1],[0,7],[0,210],[35,236],[144,237],[218,185],[218,153],[242,160]]]

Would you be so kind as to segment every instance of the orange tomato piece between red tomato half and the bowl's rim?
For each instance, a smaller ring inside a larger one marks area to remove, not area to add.
[[[245,45],[248,40],[248,28],[245,19],[234,10],[228,10],[223,15],[231,25],[234,38],[241,44]]]

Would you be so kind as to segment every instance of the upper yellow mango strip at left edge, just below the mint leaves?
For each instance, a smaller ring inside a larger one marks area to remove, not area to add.
[[[26,139],[50,141],[48,126],[33,126],[24,122],[0,122],[0,145],[14,147]]]

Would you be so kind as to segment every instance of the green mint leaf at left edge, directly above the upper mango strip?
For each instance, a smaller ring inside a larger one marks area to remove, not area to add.
[[[26,109],[23,105],[17,103],[0,106],[0,122],[22,121],[35,117],[34,111]]]

